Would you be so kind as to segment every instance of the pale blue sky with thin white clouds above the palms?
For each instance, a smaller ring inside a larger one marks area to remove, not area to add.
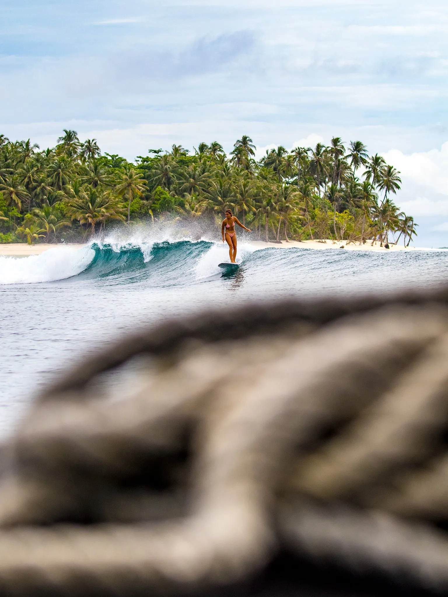
[[[418,246],[448,247],[446,0],[0,2],[0,133],[63,128],[133,160],[249,135],[361,140],[401,171]]]

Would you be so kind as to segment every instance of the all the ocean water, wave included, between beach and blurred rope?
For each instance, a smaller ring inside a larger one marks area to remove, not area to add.
[[[151,234],[0,257],[0,436],[42,384],[143,323],[268,297],[388,293],[448,279],[448,251],[259,249],[240,241],[240,267],[223,275],[218,264],[228,260],[221,242]]]

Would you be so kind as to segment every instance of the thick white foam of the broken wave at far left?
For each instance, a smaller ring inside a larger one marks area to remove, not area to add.
[[[78,275],[95,256],[90,247],[54,247],[30,257],[0,257],[0,284],[36,284]]]

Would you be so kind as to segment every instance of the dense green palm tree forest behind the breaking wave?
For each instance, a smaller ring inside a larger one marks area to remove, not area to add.
[[[73,130],[45,150],[0,135],[0,242],[85,242],[148,221],[202,219],[220,228],[226,208],[266,242],[409,246],[416,235],[392,200],[400,173],[361,141],[278,146],[258,161],[255,150],[242,136],[229,155],[213,141],[192,152],[150,149],[128,162]]]

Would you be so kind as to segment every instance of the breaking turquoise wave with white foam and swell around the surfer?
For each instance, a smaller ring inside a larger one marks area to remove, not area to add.
[[[142,288],[185,287],[219,279],[227,245],[206,239],[106,239],[81,247],[56,247],[38,256],[0,257],[0,284],[63,281],[96,285],[140,284]],[[446,281],[447,254],[439,251],[369,253],[308,248],[254,248],[241,242],[243,264],[235,282],[249,291],[306,293],[392,290],[398,285]]]

